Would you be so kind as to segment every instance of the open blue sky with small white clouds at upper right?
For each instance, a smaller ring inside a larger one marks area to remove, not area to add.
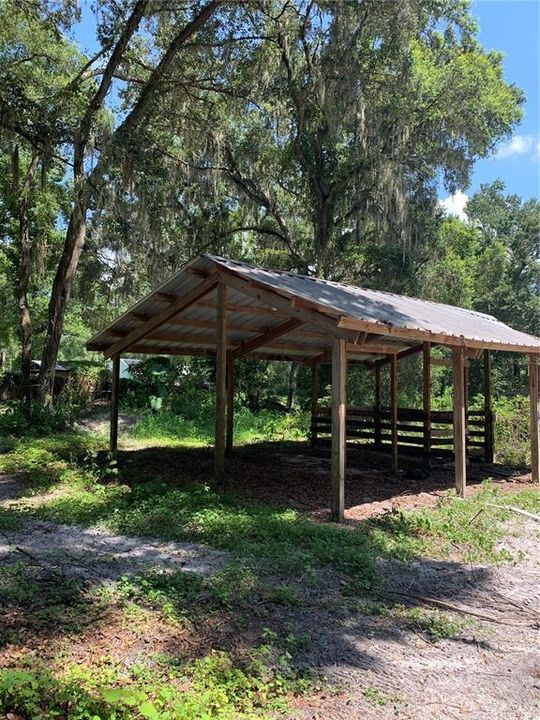
[[[476,0],[472,13],[482,45],[505,54],[506,80],[524,90],[525,117],[493,157],[477,161],[471,186],[445,200],[456,214],[461,214],[467,196],[497,178],[508,192],[540,197],[540,0]]]

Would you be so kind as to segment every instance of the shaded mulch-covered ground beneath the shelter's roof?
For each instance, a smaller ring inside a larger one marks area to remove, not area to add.
[[[212,448],[155,447],[119,453],[123,476],[138,480],[161,478],[182,486],[208,483],[213,475]],[[350,450],[345,483],[345,517],[354,522],[392,509],[431,507],[454,486],[452,463],[404,458],[396,477],[387,455]],[[422,468],[421,472],[418,470]],[[426,475],[426,477],[423,477]],[[523,468],[473,462],[468,468],[467,494],[491,478],[502,492],[537,486]],[[246,499],[294,508],[315,519],[327,520],[330,506],[330,453],[307,443],[260,443],[235,448],[227,464],[226,486]]]

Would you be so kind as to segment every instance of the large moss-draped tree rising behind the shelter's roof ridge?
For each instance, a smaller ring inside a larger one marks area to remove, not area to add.
[[[383,244],[414,264],[437,178],[466,186],[521,116],[500,54],[479,46],[465,3],[259,7],[253,34],[267,40],[234,66],[198,169],[221,173],[252,218],[238,232],[289,266],[367,279]]]

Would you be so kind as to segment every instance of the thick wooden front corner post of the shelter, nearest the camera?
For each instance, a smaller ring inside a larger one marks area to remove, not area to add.
[[[332,520],[345,512],[345,450],[347,415],[347,354],[345,340],[332,345]]]

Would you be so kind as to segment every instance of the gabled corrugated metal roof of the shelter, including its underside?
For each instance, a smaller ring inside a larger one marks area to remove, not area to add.
[[[206,253],[95,335],[88,349],[108,356],[213,355],[218,281],[227,285],[228,348],[237,356],[323,360],[334,337],[344,338],[349,358],[361,361],[424,341],[540,354],[539,338],[491,315]],[[278,326],[290,318],[297,325],[280,332]],[[259,345],[258,336],[264,340]],[[243,351],[248,342],[249,351]]]

